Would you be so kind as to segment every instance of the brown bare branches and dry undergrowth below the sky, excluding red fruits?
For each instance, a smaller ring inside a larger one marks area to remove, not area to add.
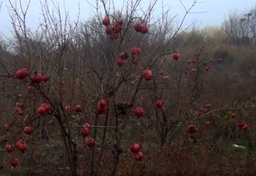
[[[26,25],[29,4],[20,8],[21,2],[6,1],[13,38],[0,43],[0,126],[9,124],[0,130],[0,173],[256,174],[256,8],[232,12],[222,28],[183,30],[182,22],[174,26],[169,9],[163,8],[159,19],[151,16],[157,0],[143,10],[140,0],[124,1],[119,10],[114,1],[96,0],[91,5],[95,16],[85,22],[79,15],[71,21],[53,1],[38,2],[43,20],[33,32]],[[196,4],[184,8],[184,19]],[[122,19],[122,30],[110,28],[107,35],[106,17],[111,26]],[[137,24],[148,31],[136,32]],[[140,53],[131,54],[134,46]],[[128,58],[119,62],[121,53]],[[22,68],[29,75],[21,79],[16,72]],[[36,83],[38,73],[49,80]],[[107,107],[100,113],[102,99]],[[164,102],[162,108],[157,100]],[[51,108],[40,115],[42,103]],[[137,107],[144,111],[139,118]],[[248,128],[238,127],[242,121]],[[84,123],[90,124],[86,137],[81,135]],[[26,126],[32,127],[31,135],[23,131]],[[87,146],[90,138],[93,147]],[[23,153],[15,147],[20,139],[28,146]],[[140,145],[141,161],[130,151],[133,143]],[[13,145],[9,153],[8,144]],[[15,168],[12,158],[19,160]]]

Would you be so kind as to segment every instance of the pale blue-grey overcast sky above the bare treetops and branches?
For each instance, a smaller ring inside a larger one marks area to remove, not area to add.
[[[1,1],[1,0],[0,0]],[[6,35],[10,36],[10,29],[12,30],[10,17],[8,14],[8,5],[9,0],[3,0],[4,4],[0,12],[0,31]],[[13,0],[11,0],[13,1]],[[28,0],[21,0],[22,2],[28,2]],[[49,0],[50,1],[50,0]],[[80,3],[80,20],[84,21],[87,18],[93,15],[92,10],[89,8],[86,0],[64,0],[66,8],[69,9],[70,18],[76,19],[78,11],[78,3]],[[90,3],[95,4],[95,0],[88,0]],[[113,0],[115,2],[115,8],[122,6],[122,0]],[[56,2],[56,0],[54,0]],[[63,7],[63,0],[59,0],[60,7]],[[142,0],[141,7],[146,8],[150,0]],[[163,0],[165,8],[167,6],[172,7],[169,17],[171,18],[174,15],[178,15],[176,18],[177,23],[180,22],[183,17],[185,10],[180,3],[180,0]],[[182,0],[183,4],[188,8],[193,0]],[[207,13],[200,14],[189,14],[184,22],[184,27],[191,24],[191,22],[196,21],[197,25],[201,24],[204,26],[216,26],[221,25],[221,22],[228,15],[231,10],[236,9],[238,12],[246,12],[256,5],[256,0],[198,0],[198,2],[203,2],[197,4],[191,12],[200,12],[200,11],[209,11]],[[156,4],[154,16],[160,16],[162,11],[162,0]],[[31,0],[30,7],[27,14],[27,25],[29,28],[34,31],[38,26],[39,19],[42,17],[40,14],[41,6],[39,0]]]

